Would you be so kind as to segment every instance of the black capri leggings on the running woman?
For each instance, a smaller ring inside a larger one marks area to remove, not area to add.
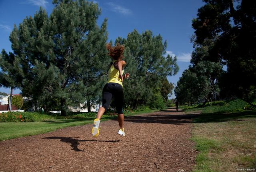
[[[102,107],[108,109],[112,96],[114,96],[116,111],[118,114],[123,113],[124,92],[123,87],[118,83],[107,83],[102,91]]]

